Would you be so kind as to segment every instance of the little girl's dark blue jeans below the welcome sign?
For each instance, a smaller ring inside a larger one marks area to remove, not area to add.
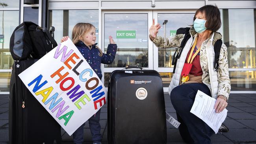
[[[82,124],[74,133],[73,133],[73,141],[75,144],[82,144],[83,142],[83,126]],[[101,142],[101,134],[100,134],[100,110],[91,118],[89,118],[89,126],[91,130],[92,140],[93,142]]]

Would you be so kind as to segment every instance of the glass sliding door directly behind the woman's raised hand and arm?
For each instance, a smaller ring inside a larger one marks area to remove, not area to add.
[[[193,24],[194,13],[156,13],[155,20],[161,25],[158,35],[164,36],[163,22],[168,20],[166,24],[166,37],[174,35],[176,30],[181,27],[189,27]],[[155,15],[154,15],[155,16]],[[164,91],[167,92],[167,87],[173,76],[172,59],[177,48],[157,48],[154,45],[154,69],[160,73],[163,80]]]

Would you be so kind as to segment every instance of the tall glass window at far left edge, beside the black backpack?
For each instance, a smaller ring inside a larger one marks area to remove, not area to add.
[[[19,26],[19,1],[1,0],[0,7],[0,94],[9,94],[13,58],[9,50],[10,37]]]

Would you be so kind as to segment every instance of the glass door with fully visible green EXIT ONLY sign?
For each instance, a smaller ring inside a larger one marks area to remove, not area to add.
[[[121,70],[126,66],[153,69],[153,45],[148,39],[151,24],[152,11],[102,12],[102,51],[107,51],[109,35],[117,43],[113,63],[102,65],[106,87],[113,70]]]

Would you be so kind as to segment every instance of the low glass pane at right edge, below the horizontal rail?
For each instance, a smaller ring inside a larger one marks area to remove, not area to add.
[[[256,71],[230,71],[232,91],[256,90]]]

